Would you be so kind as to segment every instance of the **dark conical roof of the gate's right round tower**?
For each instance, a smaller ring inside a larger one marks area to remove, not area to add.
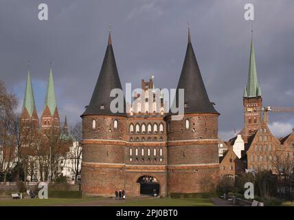
[[[208,98],[201,72],[191,43],[190,29],[188,46],[185,53],[183,69],[177,87],[177,107],[179,106],[179,89],[184,90],[185,113],[218,113]]]

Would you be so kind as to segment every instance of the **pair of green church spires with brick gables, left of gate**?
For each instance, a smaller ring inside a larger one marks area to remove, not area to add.
[[[31,121],[33,126],[39,128],[39,119],[36,111],[36,103],[34,99],[34,91],[32,87],[32,79],[30,76],[30,65],[27,72],[27,83],[25,87],[25,98],[23,100],[23,110],[21,115],[21,120]],[[52,74],[52,67],[50,67],[49,79],[47,83],[47,91],[44,102],[43,114],[41,115],[41,130],[46,131],[50,127],[59,128],[60,118],[58,114],[56,98],[55,98],[55,89],[54,81]]]

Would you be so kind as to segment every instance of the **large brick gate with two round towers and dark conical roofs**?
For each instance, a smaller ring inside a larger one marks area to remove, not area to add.
[[[205,192],[218,182],[219,113],[207,96],[190,30],[177,87],[177,94],[185,89],[182,120],[172,120],[163,103],[155,106],[150,95],[137,96],[139,104],[127,113],[112,113],[109,95],[115,88],[122,85],[109,33],[97,84],[81,115],[83,192],[109,196],[120,188],[135,196],[156,189],[159,195],[170,195]],[[153,78],[143,80],[142,89],[154,89]]]

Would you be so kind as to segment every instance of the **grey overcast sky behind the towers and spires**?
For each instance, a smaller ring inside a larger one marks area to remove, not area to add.
[[[38,20],[38,4],[49,21]],[[253,3],[255,21],[245,21]],[[106,50],[109,24],[122,87],[155,75],[155,86],[176,88],[187,46],[192,44],[210,96],[220,112],[219,135],[242,129],[251,25],[264,106],[294,107],[293,0],[1,0],[0,76],[19,98],[21,111],[27,61],[38,116],[43,111],[52,61],[60,118],[80,120],[89,104]],[[278,137],[294,127],[294,113],[270,113]]]

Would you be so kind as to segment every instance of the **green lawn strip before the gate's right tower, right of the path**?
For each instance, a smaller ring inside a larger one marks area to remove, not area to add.
[[[210,199],[141,199],[139,201],[122,201],[111,206],[214,206]]]

